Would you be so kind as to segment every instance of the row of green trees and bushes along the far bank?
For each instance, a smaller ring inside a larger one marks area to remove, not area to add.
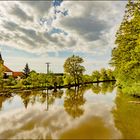
[[[3,87],[11,88],[40,88],[52,87],[59,88],[65,85],[79,86],[85,83],[99,82],[106,80],[115,80],[114,73],[111,69],[102,68],[100,71],[93,71],[92,75],[84,74],[85,67],[82,66],[84,62],[80,56],[72,55],[68,57],[64,63],[64,74],[59,75],[53,72],[37,73],[30,70],[28,63],[23,69],[24,75],[21,78],[13,78],[9,76],[3,80]],[[2,78],[1,78],[2,81]]]

